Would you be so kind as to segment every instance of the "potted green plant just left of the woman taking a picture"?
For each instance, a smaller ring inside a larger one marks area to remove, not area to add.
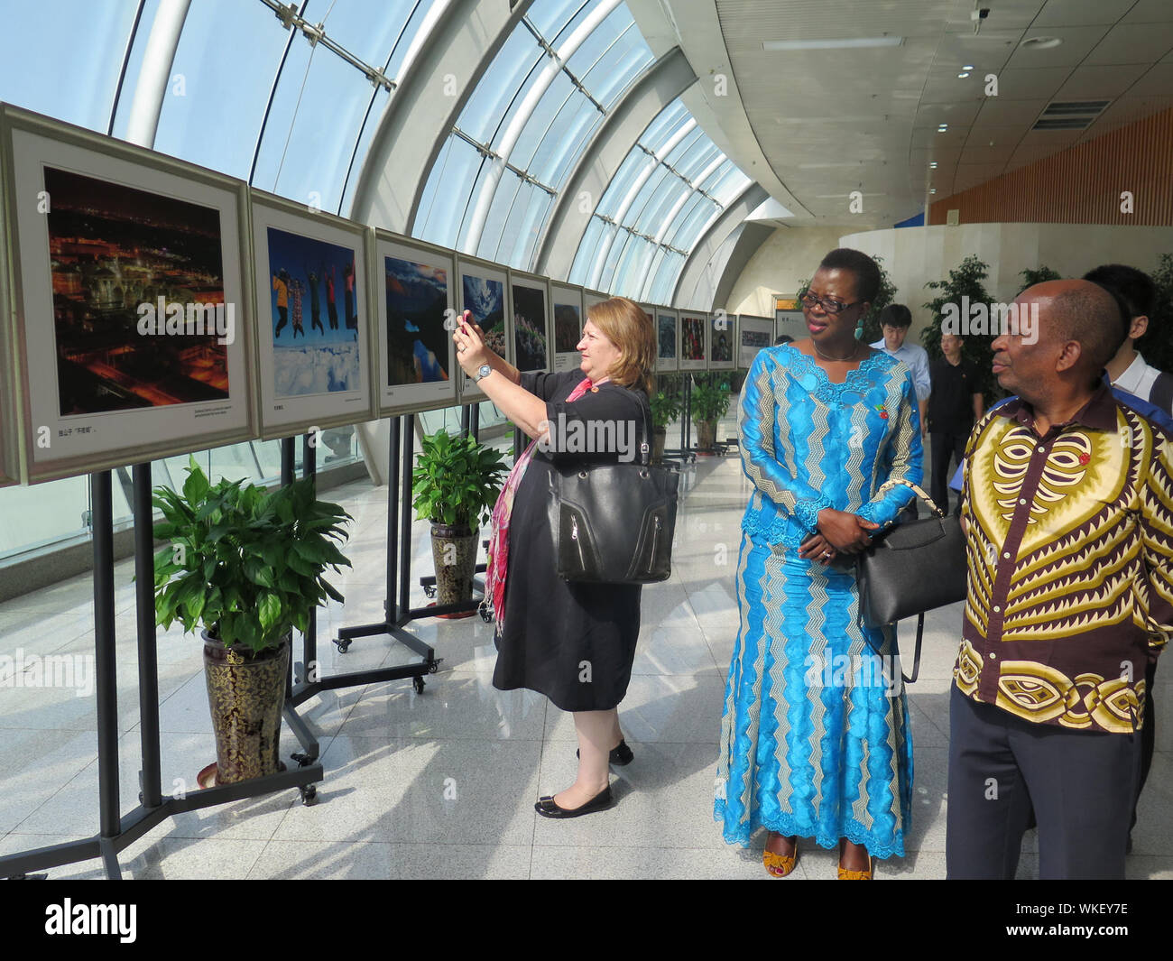
[[[436,604],[473,597],[476,535],[497,501],[506,473],[503,455],[472,436],[447,431],[425,436],[412,472],[416,520],[432,522]]]

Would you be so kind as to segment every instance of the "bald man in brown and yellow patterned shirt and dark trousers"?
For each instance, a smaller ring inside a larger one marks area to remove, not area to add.
[[[1018,394],[967,447],[968,596],[950,703],[950,878],[1123,878],[1145,668],[1173,636],[1173,434],[1113,399],[1117,299],[1018,296],[994,373]]]

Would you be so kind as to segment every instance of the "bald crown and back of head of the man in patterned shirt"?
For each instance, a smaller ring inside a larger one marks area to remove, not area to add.
[[[1118,298],[1091,280],[1045,280],[1018,296],[1037,303],[1039,324],[1058,341],[1079,343],[1079,370],[1096,379],[1127,334]]]

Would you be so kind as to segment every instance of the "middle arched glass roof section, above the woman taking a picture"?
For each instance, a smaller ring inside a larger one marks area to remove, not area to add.
[[[530,269],[575,163],[652,60],[617,0],[534,4],[445,143],[415,236]]]

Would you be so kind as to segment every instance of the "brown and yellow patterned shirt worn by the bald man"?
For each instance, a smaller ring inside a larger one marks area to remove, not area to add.
[[[1026,720],[1132,732],[1173,636],[1173,435],[1106,385],[1044,436],[1033,424],[1016,399],[970,435],[954,678]]]

